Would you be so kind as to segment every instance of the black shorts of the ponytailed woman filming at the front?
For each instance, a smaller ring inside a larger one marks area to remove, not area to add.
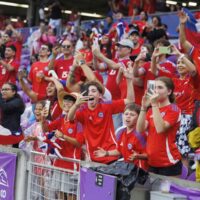
[[[163,176],[178,176],[182,173],[182,162],[179,161],[175,165],[167,167],[152,167],[149,166],[149,172]]]

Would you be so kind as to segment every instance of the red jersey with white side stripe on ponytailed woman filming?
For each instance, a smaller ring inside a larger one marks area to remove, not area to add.
[[[163,120],[171,126],[164,133],[157,133],[153,122],[152,109],[147,112],[146,116],[148,121],[147,156],[148,164],[152,167],[171,166],[181,159],[175,144],[176,133],[180,125],[180,109],[177,105],[170,104],[160,108],[160,113]]]

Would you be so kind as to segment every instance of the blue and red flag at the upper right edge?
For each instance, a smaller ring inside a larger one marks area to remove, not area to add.
[[[188,15],[188,21],[185,26],[187,40],[194,46],[200,48],[200,32],[197,32],[197,20],[194,15],[186,8],[183,11]]]

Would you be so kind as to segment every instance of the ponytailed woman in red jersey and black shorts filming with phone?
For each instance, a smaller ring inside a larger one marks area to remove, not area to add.
[[[148,131],[147,158],[149,171],[179,176],[182,170],[181,155],[175,144],[180,125],[180,109],[174,102],[174,84],[170,78],[155,80],[155,90],[145,93],[136,130]],[[148,107],[151,106],[149,110]]]

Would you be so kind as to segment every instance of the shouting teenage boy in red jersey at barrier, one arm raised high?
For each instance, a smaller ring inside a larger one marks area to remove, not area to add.
[[[110,163],[117,160],[117,156],[96,158],[94,151],[101,147],[106,151],[116,149],[116,139],[112,121],[112,114],[123,112],[125,105],[133,101],[132,67],[124,69],[127,78],[127,98],[115,101],[102,101],[103,88],[98,82],[88,82],[87,95],[80,95],[71,107],[69,120],[76,119],[83,125],[84,139],[91,161]]]

